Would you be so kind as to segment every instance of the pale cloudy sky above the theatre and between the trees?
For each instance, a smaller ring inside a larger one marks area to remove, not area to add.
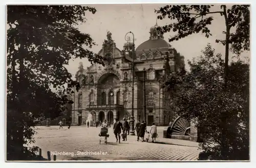
[[[79,30],[83,33],[89,33],[96,42],[96,46],[92,51],[98,52],[101,49],[104,39],[106,39],[106,32],[112,33],[112,39],[116,46],[122,50],[125,43],[124,36],[127,32],[132,31],[135,35],[135,46],[149,39],[150,27],[156,24],[156,13],[154,9],[164,6],[164,4],[133,4],[133,5],[90,5],[95,7],[97,12],[95,14],[86,13],[88,19],[86,23],[79,25]],[[220,6],[212,7],[212,11],[220,10]],[[210,43],[216,52],[225,53],[225,47],[222,44],[217,44],[216,39],[225,39],[222,33],[225,31],[224,17],[220,14],[212,14],[214,21],[209,26],[212,36],[208,39],[202,35],[194,34],[183,38],[179,41],[170,42],[170,44],[177,49],[187,60],[200,56],[201,50]],[[158,25],[162,26],[170,23],[169,19],[157,20]],[[174,32],[164,34],[164,39],[168,41],[168,37],[175,35]],[[244,54],[249,57],[249,53]],[[78,70],[79,62],[83,63],[83,67],[90,66],[91,63],[87,59],[71,60],[67,69],[73,75]]]

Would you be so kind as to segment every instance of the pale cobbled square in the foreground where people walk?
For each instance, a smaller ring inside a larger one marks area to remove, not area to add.
[[[200,153],[197,147],[137,142],[137,137],[132,135],[118,144],[112,128],[109,128],[108,144],[99,144],[99,127],[58,129],[57,126],[40,126],[36,129],[35,145],[42,149],[43,157],[47,158],[47,151],[70,152],[68,155],[57,155],[57,160],[197,160]],[[90,151],[108,154],[85,154]]]

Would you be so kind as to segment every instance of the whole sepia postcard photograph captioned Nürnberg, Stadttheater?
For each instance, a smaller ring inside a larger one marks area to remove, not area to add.
[[[250,9],[7,5],[5,160],[250,161]]]

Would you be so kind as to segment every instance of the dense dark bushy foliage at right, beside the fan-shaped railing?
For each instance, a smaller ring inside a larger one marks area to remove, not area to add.
[[[200,128],[199,159],[249,160],[249,65],[231,62],[223,90],[221,54],[209,44],[203,54],[188,62],[190,72],[183,68],[163,84],[172,93],[172,108]]]

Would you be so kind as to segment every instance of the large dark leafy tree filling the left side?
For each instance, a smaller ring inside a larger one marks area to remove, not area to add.
[[[87,11],[94,14],[96,9],[7,7],[7,159],[28,159],[24,145],[33,142],[35,120],[55,118],[71,103],[67,95],[74,86],[79,89],[79,83],[65,68],[69,60],[102,63],[89,50],[93,39],[75,27],[86,21]]]

